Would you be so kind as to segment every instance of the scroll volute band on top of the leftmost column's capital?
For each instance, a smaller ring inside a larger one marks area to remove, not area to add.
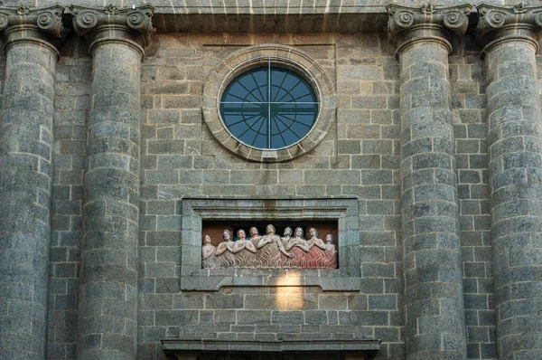
[[[62,14],[64,7],[55,5],[42,9],[34,9],[28,5],[0,10],[0,31],[14,25],[34,25],[55,37],[62,34]]]

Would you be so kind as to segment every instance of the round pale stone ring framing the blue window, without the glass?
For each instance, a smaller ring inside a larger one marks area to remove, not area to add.
[[[295,144],[277,150],[266,150],[249,147],[233,137],[220,118],[220,98],[222,91],[239,73],[253,66],[258,59],[272,57],[278,63],[285,62],[306,75],[315,92],[319,95],[320,112],[309,133]],[[316,147],[326,136],[335,119],[335,97],[332,81],[329,80],[322,67],[306,53],[292,46],[262,44],[250,46],[232,53],[218,68],[210,72],[203,86],[202,93],[203,119],[210,133],[231,153],[250,161],[284,162],[302,156]]]

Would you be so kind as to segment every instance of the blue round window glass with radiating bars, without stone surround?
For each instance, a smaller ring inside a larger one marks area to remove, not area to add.
[[[301,141],[318,117],[313,86],[292,66],[271,58],[238,74],[222,93],[220,116],[248,147],[281,149]]]

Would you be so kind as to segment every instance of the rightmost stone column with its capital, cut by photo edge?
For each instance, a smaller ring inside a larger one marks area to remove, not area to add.
[[[479,6],[500,359],[542,358],[542,6]]]

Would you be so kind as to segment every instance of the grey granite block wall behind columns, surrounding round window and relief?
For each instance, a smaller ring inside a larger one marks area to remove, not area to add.
[[[313,152],[247,162],[211,136],[201,114],[210,71],[260,43],[306,52],[336,87],[332,128]],[[485,75],[465,37],[449,58],[462,226],[468,355],[496,358],[487,185]],[[79,236],[91,59],[83,40],[57,70],[48,358],[75,356]],[[379,338],[404,356],[399,209],[399,69],[385,34],[156,34],[142,65],[138,356],[161,359],[178,336]],[[180,291],[181,200],[193,196],[357,196],[360,291],[223,288]]]

